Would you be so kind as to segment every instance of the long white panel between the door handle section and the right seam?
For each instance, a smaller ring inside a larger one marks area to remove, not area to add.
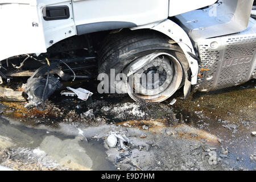
[[[75,24],[131,22],[137,26],[168,17],[168,0],[73,0]]]

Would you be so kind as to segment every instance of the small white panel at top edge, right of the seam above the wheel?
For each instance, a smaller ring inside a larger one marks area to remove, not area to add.
[[[179,15],[201,7],[213,5],[216,0],[170,0],[169,16]]]

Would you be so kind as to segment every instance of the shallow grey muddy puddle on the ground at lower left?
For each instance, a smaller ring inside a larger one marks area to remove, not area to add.
[[[28,148],[27,151],[39,148],[61,166],[73,170],[115,170],[114,165],[106,159],[102,140],[88,139],[86,142],[77,136],[57,131],[11,125],[3,118],[0,118],[0,134],[1,138],[10,140],[8,143],[0,142],[2,147]]]

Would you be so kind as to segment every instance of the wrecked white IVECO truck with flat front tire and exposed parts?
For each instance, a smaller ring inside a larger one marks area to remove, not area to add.
[[[62,81],[98,73],[126,75],[107,90],[135,101],[239,85],[255,78],[255,11],[253,0],[1,0],[1,92],[24,77],[27,106],[42,109]],[[158,79],[143,85],[142,73]]]

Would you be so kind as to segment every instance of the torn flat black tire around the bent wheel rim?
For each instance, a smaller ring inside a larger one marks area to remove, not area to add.
[[[99,73],[110,75],[110,69],[115,69],[115,74],[121,73],[134,60],[158,52],[168,53],[177,60],[181,60],[183,74],[184,69],[187,70],[188,66],[184,64],[187,59],[182,50],[177,44],[170,44],[170,39],[166,35],[153,30],[123,30],[117,34],[108,35],[102,43],[98,56]],[[184,76],[179,88],[183,82]],[[155,102],[156,100],[148,101]]]

